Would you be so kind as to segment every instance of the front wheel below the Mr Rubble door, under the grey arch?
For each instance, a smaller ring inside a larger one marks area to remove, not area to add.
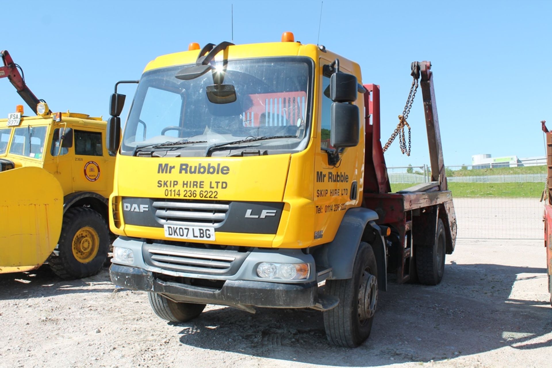
[[[330,343],[355,348],[369,337],[378,303],[376,275],[374,250],[368,243],[360,242],[353,277],[326,281],[324,292],[339,298],[337,307],[323,312]]]

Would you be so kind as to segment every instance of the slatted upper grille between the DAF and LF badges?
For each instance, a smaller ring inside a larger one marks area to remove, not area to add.
[[[156,219],[167,225],[214,226],[226,219],[230,202],[194,200],[153,201]]]

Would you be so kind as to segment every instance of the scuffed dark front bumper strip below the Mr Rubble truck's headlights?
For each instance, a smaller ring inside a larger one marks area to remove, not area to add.
[[[302,284],[226,280],[220,289],[164,281],[155,273],[134,266],[112,264],[113,284],[131,290],[157,292],[177,302],[210,303],[237,308],[249,306],[273,308],[314,307],[318,301],[316,281]]]

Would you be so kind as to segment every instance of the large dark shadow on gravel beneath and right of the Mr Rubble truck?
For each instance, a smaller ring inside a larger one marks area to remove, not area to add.
[[[447,264],[438,286],[390,284],[382,292],[372,333],[357,349],[328,344],[322,313],[258,308],[206,311],[179,324],[180,342],[204,349],[332,366],[378,366],[446,360],[512,346],[534,349],[550,340],[548,302],[511,299],[514,281],[545,278],[544,268]],[[519,275],[519,276],[518,276]],[[543,294],[545,291],[543,291]]]

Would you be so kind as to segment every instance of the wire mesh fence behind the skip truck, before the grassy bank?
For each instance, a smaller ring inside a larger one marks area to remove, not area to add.
[[[543,239],[546,166],[448,166],[459,238]],[[431,181],[427,165],[388,167],[391,190]]]

